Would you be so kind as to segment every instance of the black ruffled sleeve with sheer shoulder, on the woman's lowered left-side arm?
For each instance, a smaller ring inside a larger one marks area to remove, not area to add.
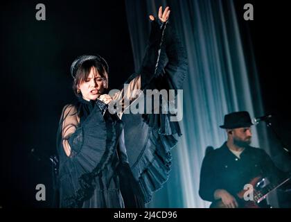
[[[118,120],[106,121],[103,112],[102,104],[95,105],[87,119],[78,125],[76,107],[64,108],[58,139],[61,207],[80,207],[91,196],[94,178],[116,151],[121,129],[114,127],[118,125],[114,121]]]

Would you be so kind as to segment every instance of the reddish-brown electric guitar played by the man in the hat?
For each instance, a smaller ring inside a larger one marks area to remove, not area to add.
[[[261,183],[265,178],[262,178],[261,176],[258,176],[254,179],[252,179],[249,184],[254,187],[254,196],[253,200],[245,200],[244,196],[248,189],[243,189],[236,194],[238,207],[239,208],[261,208],[260,202],[264,200],[268,194],[270,194],[271,191],[274,189],[277,189],[278,187],[281,187],[281,185],[288,182],[291,178],[284,179],[277,183],[270,183],[269,185],[266,185],[265,187],[259,189]],[[213,203],[211,203],[210,208],[227,208],[223,203],[222,200],[216,200]]]

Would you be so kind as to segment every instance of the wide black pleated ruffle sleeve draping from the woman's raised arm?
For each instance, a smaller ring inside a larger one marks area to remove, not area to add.
[[[182,44],[170,24],[152,22],[149,44],[139,74],[141,88],[181,89],[187,73],[187,61]],[[175,93],[175,96],[177,94]],[[176,97],[175,97],[176,98]],[[125,146],[134,177],[139,180],[145,203],[168,180],[171,166],[170,150],[182,135],[175,114],[123,114]],[[152,110],[154,111],[154,110]]]

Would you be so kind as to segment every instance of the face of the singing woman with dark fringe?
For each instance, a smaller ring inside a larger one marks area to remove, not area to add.
[[[87,101],[96,100],[101,94],[103,94],[103,78],[95,67],[91,67],[87,79],[79,83],[78,88],[82,93],[83,99]]]

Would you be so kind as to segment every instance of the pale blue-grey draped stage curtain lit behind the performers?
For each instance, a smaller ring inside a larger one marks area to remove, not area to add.
[[[238,17],[243,17],[244,10],[238,13],[234,1],[126,0],[136,71],[150,31],[148,15],[157,15],[159,6],[170,6],[170,22],[188,56],[188,76],[184,82],[183,136],[173,151],[170,178],[148,207],[209,207],[198,194],[200,168],[206,146],[218,148],[227,139],[219,128],[224,114],[241,110],[252,117],[263,114],[252,42],[244,44],[242,40],[247,33],[240,33]],[[259,135],[254,127],[253,135],[252,145],[268,152],[265,127]],[[272,203],[276,205],[276,196]]]

